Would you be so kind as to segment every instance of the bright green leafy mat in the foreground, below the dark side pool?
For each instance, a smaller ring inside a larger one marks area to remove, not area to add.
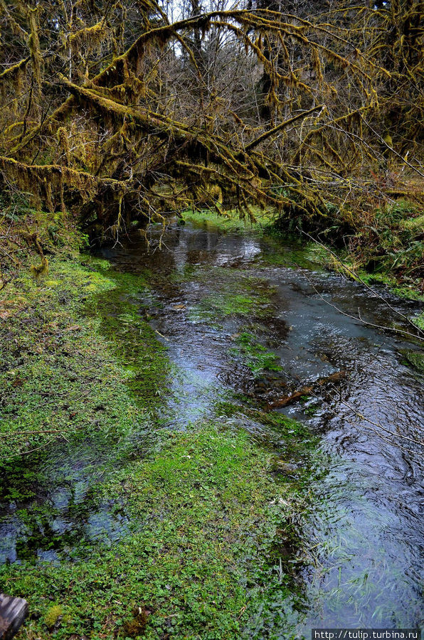
[[[105,497],[122,496],[142,528],[85,562],[3,567],[4,589],[26,594],[41,613],[26,633],[46,637],[46,597],[63,594],[68,616],[58,640],[100,631],[124,638],[136,605],[150,612],[150,639],[170,630],[179,639],[259,639],[264,626],[270,637],[281,634],[295,601],[275,549],[287,544],[282,523],[305,503],[269,474],[270,462],[245,432],[201,425],[110,476]]]

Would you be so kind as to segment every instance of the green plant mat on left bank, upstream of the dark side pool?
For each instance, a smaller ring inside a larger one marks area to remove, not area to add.
[[[117,282],[106,265],[53,257],[48,280],[21,272],[1,292],[4,457],[63,436],[122,439],[157,404],[169,367],[132,298],[145,283]]]

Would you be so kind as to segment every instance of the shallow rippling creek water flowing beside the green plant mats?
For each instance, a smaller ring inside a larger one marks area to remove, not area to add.
[[[243,397],[264,407],[344,371],[340,380],[316,384],[312,396],[282,409],[319,435],[324,467],[312,481],[314,508],[302,531],[304,548],[312,552],[298,576],[305,598],[297,633],[309,635],[313,626],[423,624],[424,447],[415,440],[423,441],[424,378],[403,356],[420,347],[341,314],[334,306],[351,315],[359,310],[377,325],[394,319],[386,303],[361,284],[323,272],[304,258],[302,267],[284,266],[302,257],[292,247],[280,247],[276,262],[275,246],[249,230],[223,233],[208,223],[189,223],[171,225],[163,237],[161,228],[150,234],[149,250],[134,237],[103,255],[117,270],[152,272],[152,289],[140,298],[140,312],[174,363],[171,393],[164,398],[164,422],[172,428],[213,417],[220,398]],[[382,295],[404,314],[417,309]],[[254,375],[238,357],[240,335],[254,336],[275,354],[278,366]],[[266,442],[265,428],[255,420],[240,424]],[[95,452],[87,455],[95,466]],[[50,464],[57,466],[57,460]],[[70,501],[83,499],[78,487],[82,494],[88,491],[85,476],[67,464],[72,488],[55,486],[59,510],[61,501],[68,508]],[[81,468],[92,473],[90,464]],[[85,527],[112,544],[127,526],[116,511],[111,516],[104,505],[85,514]],[[59,513],[58,533],[61,526],[63,533],[70,530]],[[75,522],[72,529],[80,535]],[[19,543],[13,518],[3,520],[1,533],[15,545],[6,553],[13,562]],[[47,552],[39,557],[57,559]]]

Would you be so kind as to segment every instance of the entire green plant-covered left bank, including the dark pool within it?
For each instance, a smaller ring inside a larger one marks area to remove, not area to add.
[[[280,637],[302,599],[293,523],[312,462],[276,472],[243,430],[252,410],[218,398],[216,420],[174,432],[149,274],[75,248],[49,263],[0,294],[0,589],[28,599],[18,637]],[[287,456],[310,451],[302,425],[257,414]]]

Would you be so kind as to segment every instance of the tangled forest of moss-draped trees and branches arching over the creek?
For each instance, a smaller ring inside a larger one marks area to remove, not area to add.
[[[415,0],[1,0],[3,208],[68,210],[100,239],[190,206],[262,208],[376,245],[376,210],[423,203],[423,15]]]

